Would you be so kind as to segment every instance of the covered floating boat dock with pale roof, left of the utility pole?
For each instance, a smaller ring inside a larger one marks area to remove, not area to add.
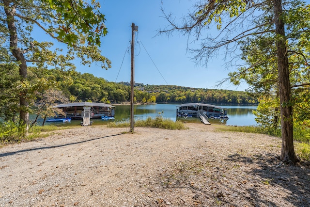
[[[62,109],[65,115],[57,114],[57,118],[68,117],[71,119],[83,119],[84,111],[90,110],[90,118],[100,119],[102,116],[114,117],[115,106],[105,103],[95,102],[75,102],[75,103],[64,103],[54,106],[54,108]]]

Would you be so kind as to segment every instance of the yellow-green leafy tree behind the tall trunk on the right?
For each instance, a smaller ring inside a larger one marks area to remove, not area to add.
[[[291,87],[290,102],[283,102],[281,106],[291,106],[292,124],[293,127],[298,127],[299,124],[305,124],[309,127],[307,120],[309,120],[309,19],[310,6],[305,6],[303,3],[294,2],[290,9],[283,11],[283,19],[286,23],[286,48],[285,51],[288,56],[289,63],[289,86]],[[262,19],[263,21],[263,19]],[[308,37],[306,37],[308,36]],[[250,65],[248,68],[239,68],[238,72],[230,74],[234,81],[240,79],[246,80],[255,91],[259,91],[263,102],[260,102],[260,114],[258,118],[268,115],[270,123],[273,123],[274,128],[278,127],[279,107],[280,104],[275,105],[279,99],[280,82],[278,81],[278,67],[275,60],[277,58],[277,42],[276,34],[256,35],[255,38],[247,39],[242,42],[242,56],[243,59]],[[258,71],[260,71],[258,73]],[[236,74],[242,74],[236,76]],[[283,82],[283,81],[282,81]],[[267,98],[268,97],[268,98]],[[267,102],[266,102],[267,101]],[[300,104],[302,103],[302,104]],[[273,106],[270,110],[263,109],[266,106]],[[262,113],[263,112],[263,113]],[[269,113],[269,114],[267,114]],[[282,116],[283,117],[283,116]],[[266,124],[266,120],[260,119],[262,124]],[[283,122],[281,122],[283,123]],[[270,126],[269,126],[270,127]],[[281,126],[283,128],[283,125]],[[282,136],[283,138],[283,136]],[[293,149],[291,149],[293,150]],[[283,153],[283,150],[282,150]],[[283,155],[285,156],[285,155]]]

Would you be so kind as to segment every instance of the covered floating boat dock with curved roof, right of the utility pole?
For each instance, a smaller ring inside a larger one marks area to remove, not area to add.
[[[212,104],[185,103],[177,106],[176,115],[184,117],[184,114],[192,117],[204,115],[211,119],[228,119],[227,109]]]

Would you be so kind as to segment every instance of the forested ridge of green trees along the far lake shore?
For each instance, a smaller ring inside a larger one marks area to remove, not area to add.
[[[126,83],[109,82],[90,73],[75,72],[70,75],[70,85],[63,82],[56,70],[49,75],[59,80],[59,88],[71,101],[124,103],[130,101],[130,86]],[[202,89],[176,85],[135,84],[135,102],[139,103],[186,103],[258,104],[256,98],[244,91]]]

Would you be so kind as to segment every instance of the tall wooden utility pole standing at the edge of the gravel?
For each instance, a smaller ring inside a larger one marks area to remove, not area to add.
[[[134,132],[134,85],[135,85],[135,32],[138,26],[131,24],[131,77],[130,77],[130,132]]]

